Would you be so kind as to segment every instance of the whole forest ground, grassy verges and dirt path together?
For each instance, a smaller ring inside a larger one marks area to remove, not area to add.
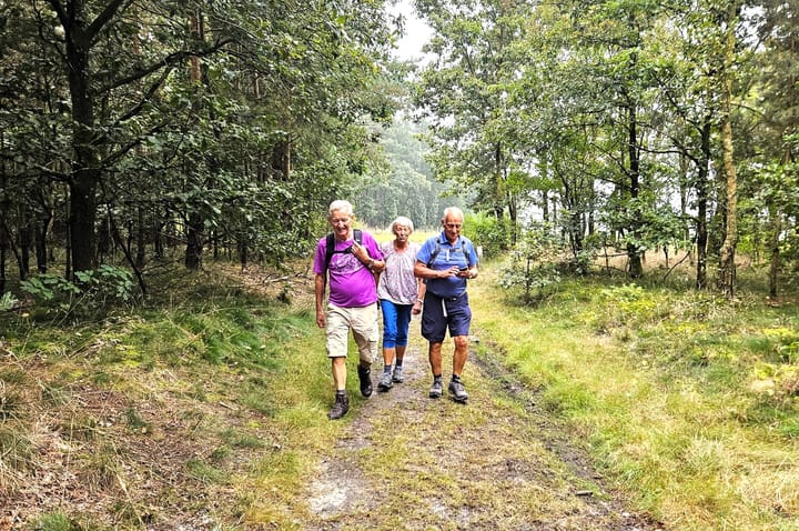
[[[415,377],[351,378],[330,422],[307,267],[210,268],[2,315],[0,529],[799,529],[793,301],[596,277],[519,305],[485,266],[471,403],[426,398],[414,329]]]

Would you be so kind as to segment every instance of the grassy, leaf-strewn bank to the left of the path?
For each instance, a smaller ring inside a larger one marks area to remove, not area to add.
[[[102,507],[117,508],[104,518],[127,522],[120,529],[176,524],[191,507],[218,529],[291,525],[306,474],[341,429],[325,417],[323,332],[306,301],[252,294],[219,272],[175,275],[163,280],[171,291],[153,290],[160,299],[103,321],[2,323],[0,344],[13,352],[0,367],[7,499],[45,490],[37,481],[62,465],[74,478],[59,488],[63,509],[42,508],[34,529],[93,527],[69,509],[78,490],[115,498]]]

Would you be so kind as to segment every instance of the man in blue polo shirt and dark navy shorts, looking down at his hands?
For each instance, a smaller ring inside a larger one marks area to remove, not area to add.
[[[466,280],[477,277],[477,252],[472,241],[461,236],[464,216],[448,207],[442,218],[442,232],[429,238],[416,254],[414,274],[427,284],[422,312],[422,337],[429,342],[428,355],[433,370],[429,398],[443,394],[442,343],[447,330],[455,342],[449,393],[456,402],[466,403],[468,393],[461,381],[468,355],[468,332],[472,309],[468,305]]]

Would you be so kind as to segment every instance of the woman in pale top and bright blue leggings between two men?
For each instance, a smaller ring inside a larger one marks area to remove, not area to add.
[[[383,310],[383,377],[377,384],[377,390],[382,392],[388,391],[393,383],[404,380],[402,363],[408,341],[411,315],[422,311],[425,291],[422,280],[414,275],[419,246],[409,240],[413,221],[401,216],[392,222],[391,231],[394,240],[381,246],[385,269],[377,282],[377,298]]]

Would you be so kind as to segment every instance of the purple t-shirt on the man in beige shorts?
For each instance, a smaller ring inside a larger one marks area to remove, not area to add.
[[[366,231],[362,232],[361,243],[375,260],[383,260],[377,241]],[[347,251],[353,240],[334,240],[336,252],[331,257],[327,271],[330,288],[330,303],[340,308],[361,308],[377,301],[377,288],[374,274],[361,260]],[[345,251],[345,252],[342,252]],[[322,238],[316,246],[314,257],[314,273],[324,274],[325,254],[327,252],[327,238]]]

